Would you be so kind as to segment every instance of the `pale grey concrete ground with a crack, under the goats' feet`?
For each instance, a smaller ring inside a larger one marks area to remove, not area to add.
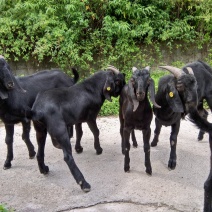
[[[209,120],[211,114],[209,115]],[[138,148],[131,148],[130,173],[124,172],[121,154],[118,117],[97,120],[100,129],[102,155],[96,155],[93,135],[83,124],[82,146],[84,152],[74,159],[91,184],[84,193],[76,184],[63,161],[62,151],[53,147],[47,138],[45,162],[48,175],[40,174],[36,159],[28,159],[21,140],[21,125],[16,125],[14,135],[14,160],[12,168],[3,170],[6,158],[5,130],[0,127],[0,202],[16,212],[199,212],[203,209],[203,184],[209,173],[210,151],[208,135],[197,141],[198,130],[189,121],[181,122],[177,145],[177,167],[167,168],[170,154],[170,127],[163,127],[160,142],[151,148],[152,176],[145,173],[141,131],[136,131]],[[154,120],[152,121],[152,136]],[[36,145],[34,129],[31,140]],[[75,135],[72,139],[74,147]]]

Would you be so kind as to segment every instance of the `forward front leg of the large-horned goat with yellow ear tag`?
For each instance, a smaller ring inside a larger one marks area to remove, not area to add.
[[[171,130],[172,130],[170,135],[171,152],[170,152],[170,157],[168,162],[168,168],[170,170],[175,169],[177,164],[176,148],[177,148],[177,135],[179,133],[179,129],[180,129],[180,120],[171,126]]]

